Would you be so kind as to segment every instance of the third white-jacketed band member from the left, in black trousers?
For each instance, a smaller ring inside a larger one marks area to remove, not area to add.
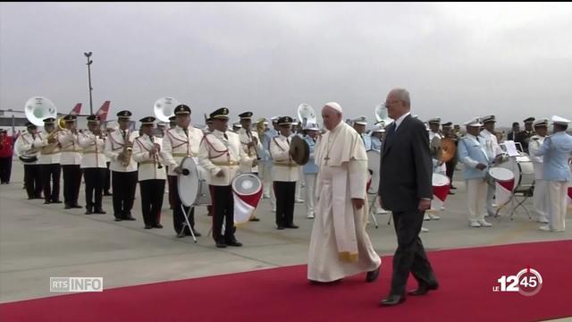
[[[82,208],[78,205],[81,186],[81,147],[78,143],[78,130],[76,116],[63,116],[65,129],[58,132],[57,140],[60,142],[60,165],[63,174],[63,203],[65,209]]]

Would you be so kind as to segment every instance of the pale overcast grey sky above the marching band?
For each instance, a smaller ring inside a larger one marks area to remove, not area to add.
[[[337,101],[371,125],[395,87],[424,121],[572,119],[572,4],[2,3],[0,108],[45,96],[88,113],[86,51],[94,111],[137,120],[172,96],[193,123]]]

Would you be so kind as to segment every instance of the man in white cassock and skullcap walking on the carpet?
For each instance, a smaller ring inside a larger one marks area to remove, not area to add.
[[[357,131],[342,122],[341,113],[334,102],[322,109],[329,131],[315,144],[319,170],[307,278],[333,282],[367,272],[366,282],[374,282],[382,259],[366,233],[366,148]]]

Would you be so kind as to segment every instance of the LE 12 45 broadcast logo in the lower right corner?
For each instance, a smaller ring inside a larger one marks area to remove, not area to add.
[[[523,268],[517,275],[502,275],[497,280],[500,285],[492,286],[492,292],[519,292],[533,296],[543,288],[543,276],[534,268]]]

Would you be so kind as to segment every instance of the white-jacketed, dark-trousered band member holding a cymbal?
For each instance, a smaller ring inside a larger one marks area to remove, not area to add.
[[[284,228],[298,228],[294,225],[294,195],[299,180],[299,165],[290,156],[290,125],[292,118],[278,119],[280,135],[270,141],[270,154],[273,159],[273,188],[276,196],[276,225]]]

